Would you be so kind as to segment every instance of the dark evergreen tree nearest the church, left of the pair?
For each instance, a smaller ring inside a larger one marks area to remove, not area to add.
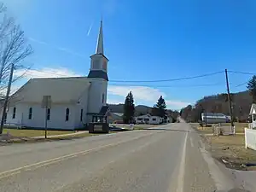
[[[134,99],[133,95],[130,91],[128,95],[125,97],[125,106],[124,106],[124,115],[123,120],[125,124],[129,124],[133,121],[135,107],[134,107]]]

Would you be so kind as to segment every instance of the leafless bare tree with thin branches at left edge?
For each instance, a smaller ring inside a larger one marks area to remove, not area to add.
[[[20,61],[32,54],[32,47],[27,44],[20,26],[7,15],[3,3],[0,3],[0,18],[0,90],[3,90],[7,87],[12,64],[15,70],[24,68]],[[15,77],[13,82],[17,79],[20,77]]]

